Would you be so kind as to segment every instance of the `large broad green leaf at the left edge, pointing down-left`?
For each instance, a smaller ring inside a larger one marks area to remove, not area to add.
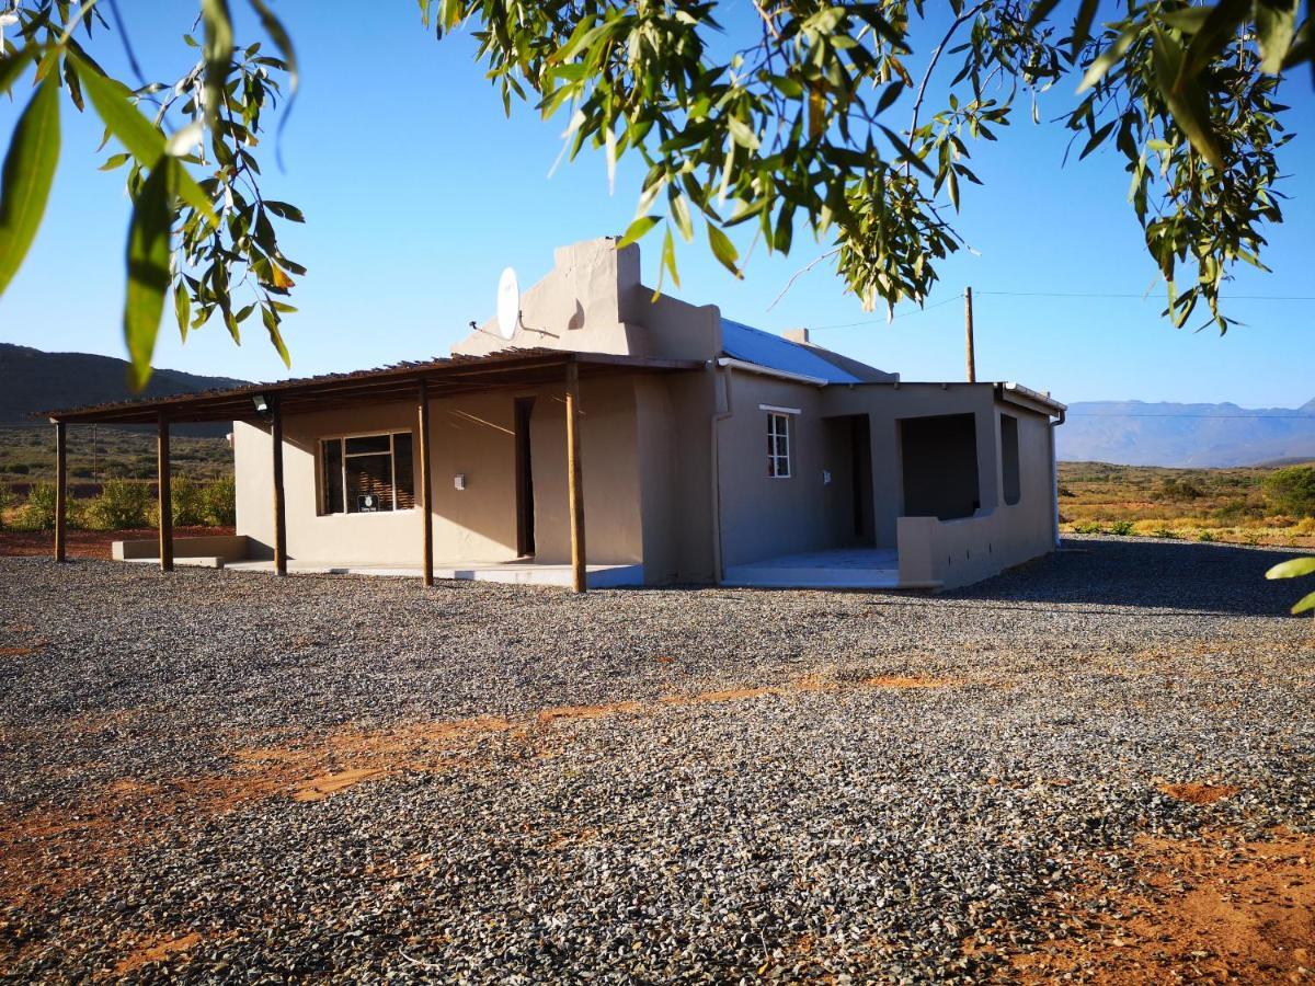
[[[50,74],[22,110],[0,172],[0,294],[37,238],[58,162],[59,84]]]

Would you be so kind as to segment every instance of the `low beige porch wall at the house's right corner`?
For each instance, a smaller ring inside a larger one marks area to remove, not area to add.
[[[957,589],[999,575],[1053,548],[1048,531],[1019,530],[1026,517],[1018,507],[980,510],[974,517],[940,521],[935,517],[901,517],[899,584],[940,584]]]

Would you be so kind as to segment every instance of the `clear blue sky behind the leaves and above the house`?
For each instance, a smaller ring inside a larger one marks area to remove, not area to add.
[[[191,26],[192,5],[139,0],[125,9],[147,76],[185,71],[192,51],[178,38]],[[276,9],[302,68],[283,142],[287,171],[280,174],[272,154],[263,158],[267,196],[296,202],[309,221],[281,234],[285,252],[309,268],[292,298],[300,313],[284,326],[293,375],[446,355],[471,319],[492,314],[504,266],[515,267],[522,284],[533,283],[550,270],[554,246],[618,234],[630,222],[639,172],[623,166],[609,196],[602,155],[585,151],[550,177],[565,121],[542,122],[523,108],[506,120],[468,37],[437,42],[413,4],[367,13],[337,0],[281,0]],[[245,39],[254,37],[247,32]],[[121,64],[110,38],[93,53]],[[1043,118],[1069,104],[1069,83],[1061,89],[1043,97]],[[1283,96],[1293,106],[1289,126],[1298,130],[1283,153],[1291,175],[1283,188],[1287,221],[1269,235],[1273,273],[1239,271],[1228,287],[1235,296],[1315,297],[1308,78],[1294,76]],[[0,141],[8,141],[20,106],[0,101]],[[122,172],[96,171],[109,153],[96,153],[100,135],[91,114],[64,104],[53,202],[0,298],[0,340],[124,355],[129,202]],[[1027,122],[1023,106],[997,143],[973,149],[974,171],[986,184],[965,191],[959,227],[976,252],[942,264],[926,310],[905,306],[888,325],[884,316],[865,314],[825,264],[769,309],[790,275],[823,250],[798,233],[788,258],[756,251],[743,281],[701,245],[688,246],[676,293],[717,302],[727,317],[772,331],[809,326],[817,342],[906,380],[959,380],[959,296],[972,284],[981,379],[1018,380],[1064,401],[1295,406],[1315,397],[1315,301],[1233,301],[1228,312],[1245,325],[1223,338],[1173,329],[1159,314],[1162,288],[1126,204],[1120,159],[1111,149],[1061,167],[1066,139],[1060,126]],[[646,280],[655,283],[658,242],[643,246]],[[155,363],[256,380],[287,376],[258,321],[245,329],[241,347],[217,319],[183,344],[167,317]]]

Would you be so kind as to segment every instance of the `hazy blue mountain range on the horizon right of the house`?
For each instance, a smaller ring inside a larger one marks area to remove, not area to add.
[[[1315,400],[1301,408],[1085,401],[1056,433],[1066,461],[1224,467],[1315,459]]]

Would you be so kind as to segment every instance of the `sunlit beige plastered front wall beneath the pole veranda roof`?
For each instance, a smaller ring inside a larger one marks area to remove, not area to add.
[[[710,400],[702,372],[626,375],[581,383],[580,451],[585,547],[590,564],[643,564],[648,582],[711,578],[707,490]],[[434,560],[515,557],[514,401],[533,397],[535,560],[571,560],[562,388],[543,387],[430,401]],[[320,442],[416,431],[416,406],[389,404],[284,419],[288,556],[335,565],[418,567],[421,514],[320,513]],[[684,440],[684,433],[693,433]],[[272,557],[274,494],[268,427],[234,427],[237,532],[252,557]],[[418,460],[417,460],[418,481]],[[455,488],[464,476],[466,489]]]

